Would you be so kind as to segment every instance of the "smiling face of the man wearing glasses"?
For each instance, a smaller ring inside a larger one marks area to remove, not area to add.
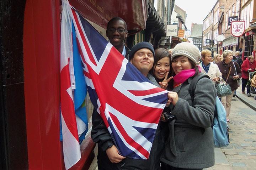
[[[123,32],[121,32],[121,30],[123,30]],[[110,43],[116,49],[124,45],[124,38],[127,38],[128,35],[125,24],[122,20],[114,20],[109,23],[106,33]]]

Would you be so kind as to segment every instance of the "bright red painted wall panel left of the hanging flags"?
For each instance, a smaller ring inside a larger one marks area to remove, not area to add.
[[[29,169],[64,169],[59,140],[60,1],[27,0],[23,52]]]

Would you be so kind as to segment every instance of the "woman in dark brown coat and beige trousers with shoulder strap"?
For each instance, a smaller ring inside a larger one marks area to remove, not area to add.
[[[234,94],[234,91],[238,89],[238,83],[236,79],[241,78],[241,70],[238,63],[233,62],[233,51],[225,50],[223,51],[223,61],[218,62],[217,65],[222,72],[222,78],[229,84],[231,87],[232,94],[222,97],[222,104],[226,109],[227,121],[229,121],[228,116],[231,108],[231,100]]]

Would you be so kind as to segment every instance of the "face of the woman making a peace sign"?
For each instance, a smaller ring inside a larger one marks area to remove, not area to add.
[[[170,66],[170,58],[169,57],[164,57],[161,60],[159,60],[155,66],[154,66],[154,75],[158,79],[163,79],[165,78],[165,74],[170,71],[171,66]]]

